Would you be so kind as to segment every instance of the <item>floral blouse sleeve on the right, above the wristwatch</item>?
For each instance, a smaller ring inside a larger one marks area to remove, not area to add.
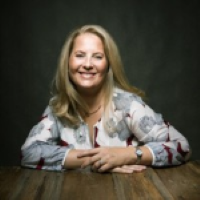
[[[131,103],[127,122],[138,141],[152,153],[152,166],[180,165],[189,159],[187,139],[145,103]]]

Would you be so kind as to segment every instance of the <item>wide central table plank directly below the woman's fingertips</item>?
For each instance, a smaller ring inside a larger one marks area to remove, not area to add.
[[[116,200],[112,174],[99,174],[88,170],[66,172],[60,199]]]

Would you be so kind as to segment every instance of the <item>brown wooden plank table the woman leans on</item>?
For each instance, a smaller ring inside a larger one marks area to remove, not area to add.
[[[200,199],[200,161],[134,174],[0,167],[0,200]]]

